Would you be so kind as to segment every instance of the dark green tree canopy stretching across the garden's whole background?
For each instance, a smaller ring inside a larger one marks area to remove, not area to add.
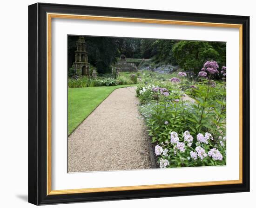
[[[74,63],[78,36],[68,36],[68,68]],[[85,37],[88,62],[99,73],[108,73],[116,58],[152,58],[155,63],[179,65],[184,70],[200,71],[207,60],[226,65],[226,43],[191,40]]]

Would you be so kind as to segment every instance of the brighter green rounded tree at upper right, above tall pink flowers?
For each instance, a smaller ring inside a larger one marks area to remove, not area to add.
[[[201,71],[203,63],[207,60],[219,62],[220,54],[208,42],[182,40],[172,48],[173,55],[184,70]]]

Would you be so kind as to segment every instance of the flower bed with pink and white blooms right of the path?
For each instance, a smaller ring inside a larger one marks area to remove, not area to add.
[[[142,76],[136,93],[160,168],[226,164],[226,84],[214,79],[224,80],[226,67],[218,68],[206,62],[196,82],[185,72],[160,81]]]

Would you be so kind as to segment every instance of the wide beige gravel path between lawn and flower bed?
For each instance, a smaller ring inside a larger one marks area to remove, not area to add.
[[[68,137],[68,172],[149,169],[135,87],[113,91]]]

